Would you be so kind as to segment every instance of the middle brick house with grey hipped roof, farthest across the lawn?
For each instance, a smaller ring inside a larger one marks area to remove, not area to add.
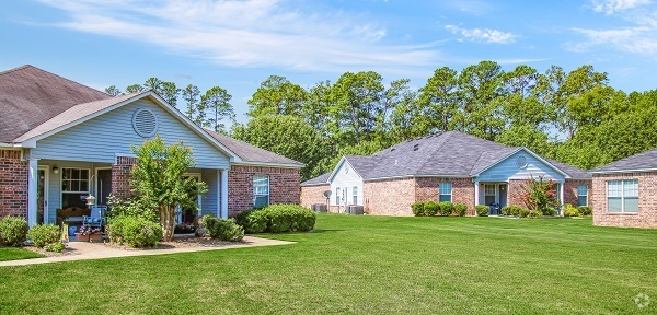
[[[532,177],[554,180],[563,203],[589,205],[587,172],[458,131],[411,139],[370,156],[343,156],[332,172],[301,183],[301,205],[328,202],[334,212],[358,205],[370,214],[411,215],[412,203],[435,200],[464,203],[474,215],[476,205],[521,206],[518,186]]]

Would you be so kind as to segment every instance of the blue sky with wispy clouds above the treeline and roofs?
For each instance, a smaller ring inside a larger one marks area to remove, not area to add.
[[[306,88],[373,70],[416,89],[437,68],[494,60],[592,65],[624,91],[657,82],[652,0],[4,1],[0,36],[0,70],[30,63],[100,90],[149,77],[219,85],[239,121],[270,74]]]

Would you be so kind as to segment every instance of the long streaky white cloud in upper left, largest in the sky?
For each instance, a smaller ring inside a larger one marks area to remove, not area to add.
[[[146,42],[232,67],[299,70],[424,67],[435,47],[382,44],[385,28],[343,12],[306,12],[285,0],[41,0],[68,13],[60,27]]]

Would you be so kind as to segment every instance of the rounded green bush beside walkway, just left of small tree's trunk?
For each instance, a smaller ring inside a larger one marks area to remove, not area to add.
[[[107,236],[131,247],[152,247],[162,240],[162,226],[141,217],[123,215],[110,220]]]

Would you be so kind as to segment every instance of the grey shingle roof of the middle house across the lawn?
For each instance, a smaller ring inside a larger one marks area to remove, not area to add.
[[[449,131],[410,139],[370,156],[346,155],[344,159],[364,180],[410,176],[475,177],[520,150],[538,156],[527,148],[511,148],[459,131]],[[590,178],[589,174],[577,167],[541,156],[539,160],[566,177]],[[324,183],[330,179],[331,177],[324,178]],[[304,183],[318,180],[320,178],[315,177]]]

